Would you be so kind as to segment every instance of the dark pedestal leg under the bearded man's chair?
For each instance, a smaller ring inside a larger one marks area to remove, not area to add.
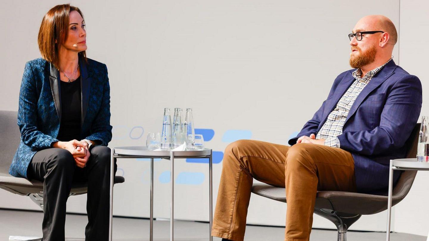
[[[346,214],[324,208],[314,208],[314,213],[326,218],[337,226],[338,241],[347,240],[347,229],[362,216],[361,214]]]

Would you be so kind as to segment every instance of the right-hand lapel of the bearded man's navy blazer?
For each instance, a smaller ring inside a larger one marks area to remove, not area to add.
[[[372,90],[375,90],[380,84],[382,84],[387,78],[393,75],[393,71],[396,69],[396,63],[393,60],[390,60],[375,76],[371,78],[369,83],[363,88],[360,94],[357,96],[356,100],[353,102],[353,105],[350,108],[349,113],[347,114],[346,123],[350,117],[356,112],[360,104]]]

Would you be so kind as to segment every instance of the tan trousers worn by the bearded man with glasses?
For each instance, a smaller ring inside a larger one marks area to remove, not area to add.
[[[350,152],[309,143],[289,147],[239,140],[224,153],[213,236],[244,240],[253,178],[285,187],[285,241],[309,240],[317,190],[356,191]]]

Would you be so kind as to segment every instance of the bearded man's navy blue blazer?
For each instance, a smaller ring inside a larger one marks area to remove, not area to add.
[[[329,113],[355,81],[352,75],[355,70],[338,75],[328,98],[299,134],[289,140],[289,145],[296,144],[300,136],[317,135]],[[408,74],[393,60],[373,76],[357,96],[338,139],[340,148],[353,155],[358,192],[387,190],[390,159],[405,158],[404,143],[418,121],[421,107],[419,78]],[[395,182],[399,175],[394,172]]]

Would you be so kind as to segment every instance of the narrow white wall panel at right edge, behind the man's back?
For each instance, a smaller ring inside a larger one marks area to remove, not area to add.
[[[429,2],[402,0],[400,12],[399,63],[409,73],[420,78],[423,86],[421,115],[429,115]],[[396,206],[395,231],[418,235],[429,232],[429,172],[417,172],[410,193]]]

